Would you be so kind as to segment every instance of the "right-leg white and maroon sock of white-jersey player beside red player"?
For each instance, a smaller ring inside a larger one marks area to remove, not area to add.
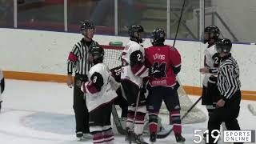
[[[144,118],[146,115],[146,106],[138,106],[134,123],[134,133],[142,134],[144,127]]]

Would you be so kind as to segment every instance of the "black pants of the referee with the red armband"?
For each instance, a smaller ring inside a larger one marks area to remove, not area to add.
[[[90,133],[89,130],[89,113],[86,106],[84,93],[81,91],[82,81],[88,79],[86,75],[75,74],[74,76],[74,114],[76,122],[76,132],[84,134]]]

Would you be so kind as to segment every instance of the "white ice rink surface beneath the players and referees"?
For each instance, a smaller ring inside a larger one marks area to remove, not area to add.
[[[191,96],[192,101],[198,97]],[[0,113],[1,144],[86,144],[74,136],[73,90],[64,83],[6,80],[6,91]],[[242,100],[238,122],[242,130],[256,130],[256,117],[250,114]],[[198,103],[206,114],[206,108]],[[163,122],[167,121],[167,117]],[[184,125],[182,134],[186,144],[192,144],[194,129],[206,129],[206,122]],[[148,142],[148,137],[146,141]],[[122,144],[124,137],[115,135],[115,143]],[[174,134],[158,140],[159,144],[176,143]],[[202,142],[204,143],[204,142]],[[220,140],[218,143],[223,143]]]

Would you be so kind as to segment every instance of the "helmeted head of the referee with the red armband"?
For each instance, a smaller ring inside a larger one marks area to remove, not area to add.
[[[82,24],[80,26],[80,30],[82,35],[84,35],[86,38],[92,39],[95,33],[94,22],[86,20],[85,22],[81,22],[81,23]]]

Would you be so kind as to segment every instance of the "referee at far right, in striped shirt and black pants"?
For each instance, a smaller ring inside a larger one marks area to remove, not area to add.
[[[220,95],[216,104],[217,109],[210,115],[208,122],[209,135],[212,130],[219,130],[222,122],[225,122],[227,130],[240,130],[237,118],[241,102],[241,83],[238,62],[230,53],[231,47],[230,39],[220,39],[216,43],[216,50],[221,58],[217,82]],[[214,143],[211,136],[209,143]]]

